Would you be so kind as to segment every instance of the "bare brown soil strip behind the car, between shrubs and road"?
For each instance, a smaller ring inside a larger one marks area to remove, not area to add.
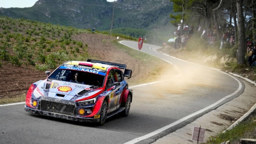
[[[165,71],[167,66],[168,69],[170,69],[170,64],[165,62],[159,64],[159,61],[156,61],[152,64],[132,58],[112,43],[113,40],[116,40],[115,37],[93,33],[82,33],[73,36],[72,39],[86,43],[88,45],[88,54],[92,59],[126,64],[127,69],[132,70],[132,78],[128,80],[130,86],[145,82],[140,82],[140,80],[146,79],[146,77],[150,75],[151,77],[149,81],[159,79],[158,75],[161,75],[160,72]],[[16,67],[5,61],[1,61],[1,63],[0,99],[15,98],[21,95],[24,96],[32,83],[47,77],[45,72],[36,70],[33,66],[25,66],[23,64],[21,67]],[[159,74],[153,73],[152,67],[158,69]],[[53,70],[50,71],[52,72]]]

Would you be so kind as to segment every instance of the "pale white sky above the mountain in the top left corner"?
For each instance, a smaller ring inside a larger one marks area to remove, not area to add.
[[[2,8],[25,8],[32,7],[37,0],[0,0],[0,7]],[[113,2],[114,0],[107,0]]]

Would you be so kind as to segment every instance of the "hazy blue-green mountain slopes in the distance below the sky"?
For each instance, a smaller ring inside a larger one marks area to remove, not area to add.
[[[113,29],[160,29],[170,25],[173,13],[169,0],[117,0],[115,7]],[[8,17],[98,30],[111,28],[112,12],[107,0],[38,0],[31,8],[0,8]]]

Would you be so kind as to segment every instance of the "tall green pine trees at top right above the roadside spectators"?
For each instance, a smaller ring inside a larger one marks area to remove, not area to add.
[[[181,20],[205,29],[215,28],[220,40],[224,29],[235,29],[235,42],[238,43],[238,64],[245,63],[245,35],[256,44],[256,0],[170,0],[174,12],[170,17],[174,25]]]

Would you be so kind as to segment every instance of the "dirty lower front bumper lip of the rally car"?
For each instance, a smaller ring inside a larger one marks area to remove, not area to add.
[[[58,114],[58,113],[54,113],[54,112],[41,111],[41,110],[33,109],[33,108],[28,107],[26,105],[25,105],[24,110],[26,112],[31,113],[31,114],[46,115],[46,116],[62,118],[62,119],[67,119],[67,120],[72,120],[72,121],[99,122],[99,118],[96,119],[96,118],[88,118],[88,117],[77,117],[77,116],[71,116],[71,115]]]

